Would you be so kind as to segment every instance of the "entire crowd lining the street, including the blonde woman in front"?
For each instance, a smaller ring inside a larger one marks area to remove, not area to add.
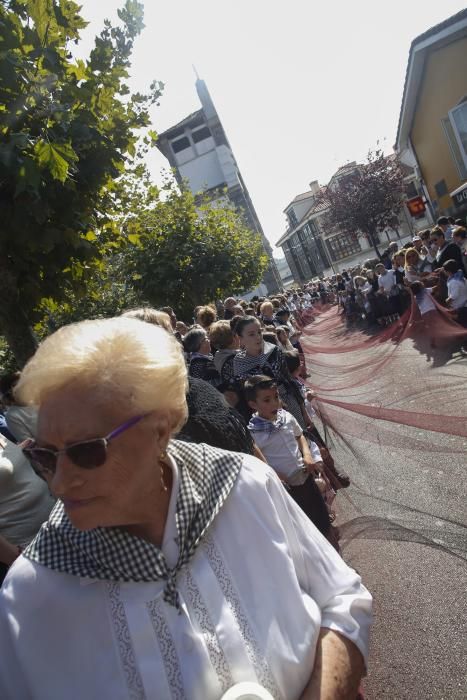
[[[371,598],[339,555],[350,479],[316,424],[301,335],[324,304],[391,324],[410,291],[467,325],[453,223],[192,319],[65,326],[0,377],[2,698],[214,700],[243,681],[258,698],[356,697]]]

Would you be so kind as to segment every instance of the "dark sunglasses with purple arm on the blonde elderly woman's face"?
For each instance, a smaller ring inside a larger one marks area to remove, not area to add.
[[[37,447],[35,440],[27,440],[23,447],[23,454],[29,459],[34,469],[39,474],[55,474],[57,469],[57,459],[61,454],[65,454],[68,459],[81,469],[95,469],[104,464],[107,459],[107,447],[109,442],[132,428],[136,423],[144,418],[135,416],[125,421],[118,428],[104,438],[93,438],[92,440],[82,440],[68,445],[63,450],[51,450],[48,447]]]

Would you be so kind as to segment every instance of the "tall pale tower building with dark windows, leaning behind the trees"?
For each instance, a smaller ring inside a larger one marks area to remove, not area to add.
[[[260,234],[269,259],[263,283],[269,293],[282,287],[272,248],[264,235],[232,148],[227,140],[204,80],[197,78],[201,109],[159,134],[157,147],[175,172],[177,181],[188,183],[193,194],[207,192],[214,200],[225,197],[242,210],[247,225]]]

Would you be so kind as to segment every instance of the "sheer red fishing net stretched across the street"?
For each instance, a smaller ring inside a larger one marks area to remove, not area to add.
[[[379,332],[349,327],[336,306],[315,308],[313,317],[301,344],[331,439],[354,451],[355,438],[360,446],[402,443],[433,454],[467,450],[458,439],[441,448],[433,435],[467,438],[460,350],[467,329],[449,311],[436,304],[422,316],[412,297],[403,316]]]

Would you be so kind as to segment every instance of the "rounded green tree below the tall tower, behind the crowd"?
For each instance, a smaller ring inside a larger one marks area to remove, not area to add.
[[[196,305],[254,287],[267,266],[260,237],[230,204],[181,191],[167,180],[124,229],[127,276],[154,306],[190,320]]]

